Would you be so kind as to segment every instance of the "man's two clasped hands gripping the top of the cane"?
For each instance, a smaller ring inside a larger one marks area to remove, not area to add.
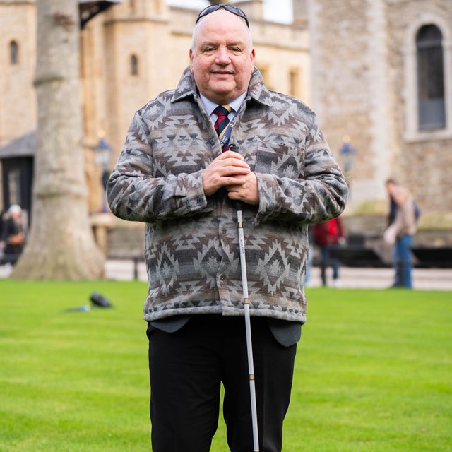
[[[234,201],[258,204],[257,178],[239,153],[227,150],[213,160],[203,172],[206,196],[213,195],[222,186]]]

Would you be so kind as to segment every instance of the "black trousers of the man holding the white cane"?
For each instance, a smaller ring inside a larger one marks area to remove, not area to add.
[[[275,340],[251,318],[261,452],[283,447],[297,345]],[[253,451],[243,317],[193,316],[174,333],[148,327],[153,452],[208,452],[218,427],[220,383],[232,452]]]

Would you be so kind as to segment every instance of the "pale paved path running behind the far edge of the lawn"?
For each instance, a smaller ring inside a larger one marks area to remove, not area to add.
[[[133,271],[132,261],[109,260],[105,263],[107,279],[131,280]],[[11,268],[0,266],[0,278],[8,278],[10,273]],[[392,278],[393,270],[391,268],[340,268],[340,287],[344,288],[384,289],[392,284]],[[143,262],[138,263],[138,280],[148,280]],[[327,272],[327,280],[330,282],[332,280],[330,271]],[[452,268],[415,268],[413,281],[415,289],[418,290],[452,291]],[[320,285],[320,269],[314,267],[309,287],[319,287]]]

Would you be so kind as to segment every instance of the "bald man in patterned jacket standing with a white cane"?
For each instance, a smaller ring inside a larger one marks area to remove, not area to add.
[[[242,10],[201,11],[189,68],[136,112],[109,179],[113,213],[146,223],[154,452],[209,451],[220,383],[230,449],[253,450],[232,201],[244,215],[260,450],[281,450],[305,321],[307,225],[345,206],[314,113],[268,91],[254,56]]]

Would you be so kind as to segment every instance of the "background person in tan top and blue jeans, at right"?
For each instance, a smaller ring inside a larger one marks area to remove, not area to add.
[[[391,188],[391,196],[396,203],[396,215],[384,237],[388,244],[393,245],[395,275],[392,287],[412,289],[411,246],[417,231],[415,203],[410,191],[400,185]]]

